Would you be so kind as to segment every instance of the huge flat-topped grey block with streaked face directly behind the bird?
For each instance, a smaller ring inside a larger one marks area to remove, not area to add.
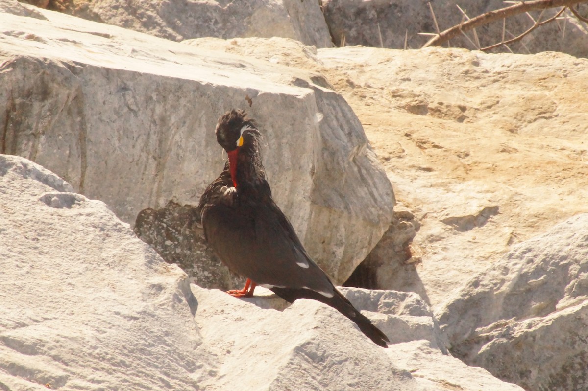
[[[322,77],[35,10],[46,20],[0,13],[2,152],[134,223],[170,200],[198,204],[223,167],[217,119],[245,107],[278,205],[336,283],[386,231],[390,182]]]

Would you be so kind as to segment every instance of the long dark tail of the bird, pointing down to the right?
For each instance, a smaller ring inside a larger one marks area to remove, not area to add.
[[[290,292],[294,290],[296,292]],[[295,301],[297,298],[306,298],[320,301],[326,305],[332,306],[341,314],[347,316],[349,319],[355,322],[362,333],[364,333],[376,345],[382,346],[382,348],[388,347],[387,343],[390,342],[390,340],[386,334],[373,325],[372,321],[366,318],[366,316],[363,316],[336,288],[335,295],[333,295],[333,297],[326,297],[310,289],[272,288],[272,291],[290,303]]]

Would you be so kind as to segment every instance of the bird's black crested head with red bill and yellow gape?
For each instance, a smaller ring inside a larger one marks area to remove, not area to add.
[[[258,149],[259,130],[255,121],[244,110],[229,110],[219,118],[216,124],[216,141],[229,155],[229,170],[233,186],[237,187],[237,164],[239,150],[250,150],[254,154]]]

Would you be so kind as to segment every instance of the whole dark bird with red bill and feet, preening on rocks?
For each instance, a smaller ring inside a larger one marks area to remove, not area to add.
[[[225,170],[202,194],[199,210],[212,250],[233,272],[248,278],[234,296],[251,296],[256,285],[288,302],[314,299],[355,322],[377,345],[386,335],[360,314],[310,259],[288,218],[272,199],[259,153],[259,131],[243,110],[220,117],[216,139],[229,155]]]

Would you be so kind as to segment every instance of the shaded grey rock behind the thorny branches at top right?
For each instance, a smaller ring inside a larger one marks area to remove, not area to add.
[[[429,38],[419,33],[436,33],[435,19],[439,30],[443,31],[463,20],[467,20],[459,6],[469,18],[495,11],[510,4],[501,0],[450,0],[450,1],[363,1],[363,0],[323,0],[325,19],[329,25],[333,42],[336,46],[364,45],[376,48],[417,49]],[[435,12],[435,19],[429,5]],[[541,21],[554,16],[559,8],[547,9]],[[580,14],[586,14],[588,8],[580,7]],[[541,11],[530,12],[535,19]],[[533,25],[530,15],[520,14],[506,19],[505,40],[513,38]],[[450,40],[454,48],[478,49],[476,36],[468,32],[468,38],[457,36]],[[482,47],[502,41],[502,19],[476,29],[477,39]],[[564,12],[560,19],[540,26],[519,42],[509,44],[515,53],[537,53],[557,51],[574,56],[588,56],[588,29],[586,23],[580,22],[570,11]],[[447,46],[447,45],[444,45]],[[495,49],[508,52],[504,46]]]

